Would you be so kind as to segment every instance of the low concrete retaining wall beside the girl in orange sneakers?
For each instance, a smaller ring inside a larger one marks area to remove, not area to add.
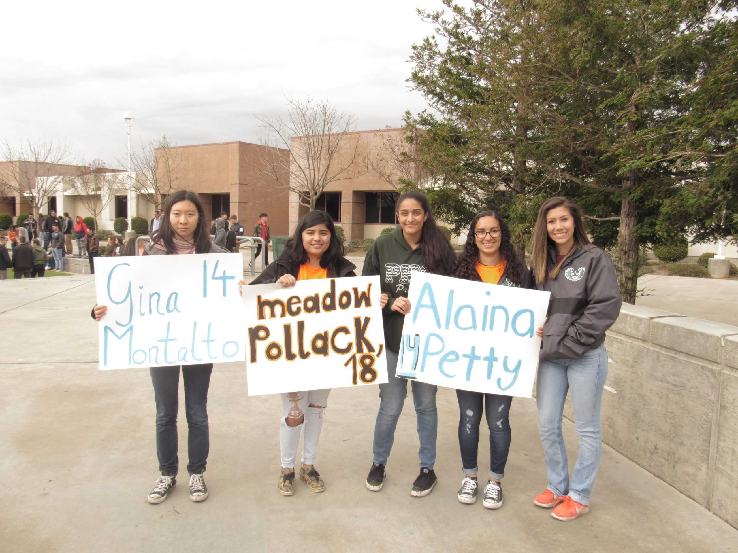
[[[604,442],[738,528],[738,327],[624,304],[605,346]]]

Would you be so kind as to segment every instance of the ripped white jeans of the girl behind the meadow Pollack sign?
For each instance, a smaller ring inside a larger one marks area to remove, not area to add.
[[[293,468],[297,458],[297,443],[303,431],[303,464],[313,465],[323,428],[323,411],[328,405],[331,389],[291,392],[282,396],[282,422],[279,443],[282,467]]]

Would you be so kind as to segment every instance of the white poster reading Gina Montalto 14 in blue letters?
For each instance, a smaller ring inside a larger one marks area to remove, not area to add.
[[[244,361],[240,254],[95,260],[100,369]]]

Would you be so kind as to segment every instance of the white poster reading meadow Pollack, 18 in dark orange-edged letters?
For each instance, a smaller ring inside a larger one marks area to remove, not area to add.
[[[249,395],[387,382],[379,277],[244,287]]]

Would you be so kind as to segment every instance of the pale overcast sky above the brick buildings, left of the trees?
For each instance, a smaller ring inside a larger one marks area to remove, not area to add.
[[[7,2],[0,139],[58,138],[115,164],[132,139],[258,142],[255,114],[285,95],[331,100],[359,130],[399,125],[411,45],[432,34],[416,7],[440,0]]]

